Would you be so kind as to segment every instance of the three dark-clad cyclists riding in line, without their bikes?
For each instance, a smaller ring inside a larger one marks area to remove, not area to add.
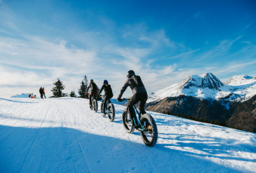
[[[130,86],[131,90],[133,90],[133,96],[130,99],[130,102],[128,103],[128,111],[129,111],[131,123],[133,123],[133,126],[135,126],[135,128],[137,129],[137,128],[140,128],[140,125],[138,122],[133,122],[133,120],[134,120],[133,117],[136,114],[133,109],[133,105],[136,105],[136,103],[140,102],[139,110],[140,110],[141,114],[146,114],[144,107],[145,107],[145,103],[148,99],[148,94],[147,94],[144,84],[142,83],[141,77],[136,75],[133,70],[128,71],[126,76],[127,76],[127,80],[123,84],[123,86],[120,90],[120,93],[117,96],[117,101],[118,102],[123,101],[123,99],[121,99],[121,97],[123,96],[123,93],[125,92],[127,87]],[[99,97],[100,93],[102,93],[102,90],[105,91],[105,96],[104,96],[104,100],[103,100],[103,108],[105,108],[106,102],[107,101],[110,102],[110,99],[113,97],[111,85],[108,83],[108,80],[103,81],[102,88],[99,90],[99,93],[98,93],[97,92],[98,88],[96,86],[96,83],[94,83],[93,79],[91,79],[89,86],[87,86],[86,93],[88,93],[88,90],[90,90],[90,94],[89,94],[90,108],[92,107],[92,97],[94,97],[94,98]],[[105,109],[103,110],[103,114],[105,114]]]

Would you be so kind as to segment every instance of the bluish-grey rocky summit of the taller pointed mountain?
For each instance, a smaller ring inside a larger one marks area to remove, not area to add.
[[[193,86],[201,89],[209,88],[212,90],[220,90],[224,84],[212,73],[204,73],[190,76],[190,79],[187,80],[187,83],[184,84],[183,88],[189,89]]]

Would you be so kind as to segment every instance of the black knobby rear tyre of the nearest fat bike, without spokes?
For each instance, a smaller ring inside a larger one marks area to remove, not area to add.
[[[150,140],[148,140],[147,136],[145,135],[145,131],[141,131],[142,140],[148,147],[153,147],[154,144],[157,143],[157,138],[158,138],[157,124],[154,121],[154,118],[150,114],[142,115],[141,120],[140,120],[142,123],[142,126],[143,126],[143,121],[145,121],[145,120],[148,120],[148,123],[151,124],[153,137],[150,141]]]

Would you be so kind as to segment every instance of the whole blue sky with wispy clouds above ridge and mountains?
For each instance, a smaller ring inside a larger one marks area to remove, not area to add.
[[[133,69],[149,92],[191,74],[256,76],[256,2],[0,0],[0,96],[48,96],[84,74],[114,94]],[[130,91],[125,96],[129,96]]]

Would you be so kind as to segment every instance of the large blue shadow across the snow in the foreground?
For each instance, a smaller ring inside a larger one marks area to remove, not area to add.
[[[0,126],[0,133],[0,172],[236,172],[170,144],[147,147],[64,127]]]

